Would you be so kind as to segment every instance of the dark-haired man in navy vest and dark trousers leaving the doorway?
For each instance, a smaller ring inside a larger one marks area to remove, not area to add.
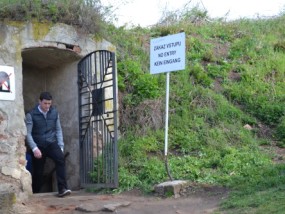
[[[43,185],[43,171],[46,157],[51,158],[56,167],[58,196],[69,195],[67,188],[64,160],[64,143],[59,115],[51,106],[49,92],[40,94],[39,105],[26,115],[27,143],[33,151],[33,192],[39,193]]]

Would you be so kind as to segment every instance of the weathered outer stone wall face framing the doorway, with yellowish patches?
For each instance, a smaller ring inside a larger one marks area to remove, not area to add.
[[[64,24],[0,23],[0,65],[12,66],[15,73],[15,99],[0,100],[0,213],[9,213],[14,204],[32,194],[31,176],[25,168],[26,127],[21,54],[24,49],[34,47],[67,49],[80,57],[97,49],[115,50],[109,42],[96,42]],[[73,140],[76,143],[76,139]]]

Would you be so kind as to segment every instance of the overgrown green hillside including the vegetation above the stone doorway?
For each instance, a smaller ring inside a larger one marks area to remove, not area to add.
[[[221,213],[284,213],[284,163],[276,165],[269,152],[274,150],[265,149],[285,147],[284,14],[223,22],[186,8],[166,13],[151,28],[125,29],[106,22],[104,14],[110,15],[110,10],[99,1],[62,2],[5,0],[0,3],[0,18],[75,24],[94,38],[100,33],[117,47],[121,97],[117,191],[151,192],[153,185],[168,180],[161,120],[165,75],[149,74],[149,42],[183,30],[186,68],[170,77],[172,176],[230,188]]]

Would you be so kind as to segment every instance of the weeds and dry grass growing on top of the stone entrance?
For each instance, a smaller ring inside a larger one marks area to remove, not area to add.
[[[99,0],[2,0],[0,19],[15,21],[61,22],[88,33],[104,34],[109,9]]]

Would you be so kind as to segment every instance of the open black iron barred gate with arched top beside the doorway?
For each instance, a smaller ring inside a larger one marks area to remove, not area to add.
[[[78,63],[82,187],[118,187],[115,54],[99,50]]]

